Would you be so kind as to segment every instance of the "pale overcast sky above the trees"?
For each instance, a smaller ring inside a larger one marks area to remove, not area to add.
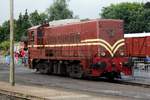
[[[84,18],[98,18],[99,12],[103,7],[110,4],[117,4],[120,2],[147,2],[150,0],[70,0],[69,8],[78,15],[81,19]],[[38,10],[44,12],[53,0],[14,0],[14,15],[18,18],[20,12],[24,13],[25,9],[28,12]],[[0,24],[9,19],[9,0],[0,0]]]

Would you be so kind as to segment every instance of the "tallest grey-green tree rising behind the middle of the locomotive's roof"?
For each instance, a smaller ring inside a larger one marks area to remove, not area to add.
[[[68,9],[66,0],[54,0],[53,5],[47,9],[47,14],[49,21],[73,18],[73,12]]]

